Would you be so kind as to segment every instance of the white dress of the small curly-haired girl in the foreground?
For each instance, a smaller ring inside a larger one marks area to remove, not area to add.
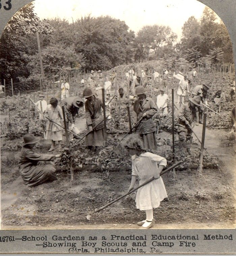
[[[141,185],[154,177],[158,165],[166,166],[166,159],[150,152],[142,153],[139,157],[134,155],[132,156],[132,175],[140,178]],[[138,189],[136,207],[141,211],[157,208],[166,197],[166,188],[160,177]]]

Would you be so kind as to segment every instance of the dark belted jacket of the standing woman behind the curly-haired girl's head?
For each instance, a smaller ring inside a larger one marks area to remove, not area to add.
[[[144,113],[146,113],[147,115],[138,125],[138,128],[136,130],[137,133],[147,134],[156,131],[156,124],[153,121],[152,117],[157,112],[157,107],[151,98],[146,97],[142,103],[142,106],[139,99],[137,99],[134,103],[134,111],[137,114],[137,119],[135,120],[135,122],[137,122]]]

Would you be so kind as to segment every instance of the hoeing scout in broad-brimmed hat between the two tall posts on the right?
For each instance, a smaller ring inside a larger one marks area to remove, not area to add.
[[[191,155],[190,147],[193,139],[191,125],[193,124],[196,107],[201,107],[200,96],[189,98],[189,102],[182,104],[178,112],[178,134],[180,145],[187,148],[187,153],[189,155]]]

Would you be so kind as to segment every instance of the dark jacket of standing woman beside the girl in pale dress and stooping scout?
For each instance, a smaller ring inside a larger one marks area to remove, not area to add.
[[[104,120],[101,114],[102,103],[101,100],[95,97],[94,104],[87,100],[85,102],[85,118],[87,125],[92,125],[95,127],[98,123]],[[104,128],[104,122],[101,122],[95,130],[100,130]]]

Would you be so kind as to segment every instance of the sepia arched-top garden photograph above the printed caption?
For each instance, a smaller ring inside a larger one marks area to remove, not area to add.
[[[234,53],[211,8],[35,0],[1,32],[2,230],[235,229]]]

